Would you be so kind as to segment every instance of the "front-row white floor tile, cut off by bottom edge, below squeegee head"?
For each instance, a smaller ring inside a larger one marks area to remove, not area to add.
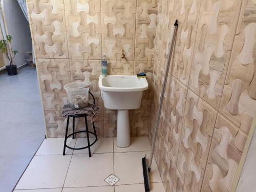
[[[133,185],[118,185],[115,186],[115,192],[144,192],[144,184],[133,184]],[[165,192],[163,183],[151,183],[151,192]]]

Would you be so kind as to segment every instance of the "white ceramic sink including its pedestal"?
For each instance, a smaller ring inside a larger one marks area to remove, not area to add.
[[[129,110],[140,108],[146,78],[136,75],[109,75],[99,77],[99,89],[106,109],[117,111],[117,140],[119,147],[128,147],[130,139]]]

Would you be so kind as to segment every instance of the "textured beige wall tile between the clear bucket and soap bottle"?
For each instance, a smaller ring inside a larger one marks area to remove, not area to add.
[[[95,98],[95,103],[103,109],[103,101],[98,85],[99,75],[101,74],[100,60],[71,59],[70,60],[71,81],[91,82],[90,92]],[[93,103],[91,99],[90,103]]]

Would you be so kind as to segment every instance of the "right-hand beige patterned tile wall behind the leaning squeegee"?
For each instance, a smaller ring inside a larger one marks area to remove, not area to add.
[[[230,191],[256,115],[256,4],[160,0],[152,80],[152,139],[170,34],[155,158],[167,192]]]

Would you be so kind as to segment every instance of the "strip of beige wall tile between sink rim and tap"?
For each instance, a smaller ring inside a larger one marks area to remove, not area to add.
[[[133,60],[108,60],[108,75],[133,75]]]

